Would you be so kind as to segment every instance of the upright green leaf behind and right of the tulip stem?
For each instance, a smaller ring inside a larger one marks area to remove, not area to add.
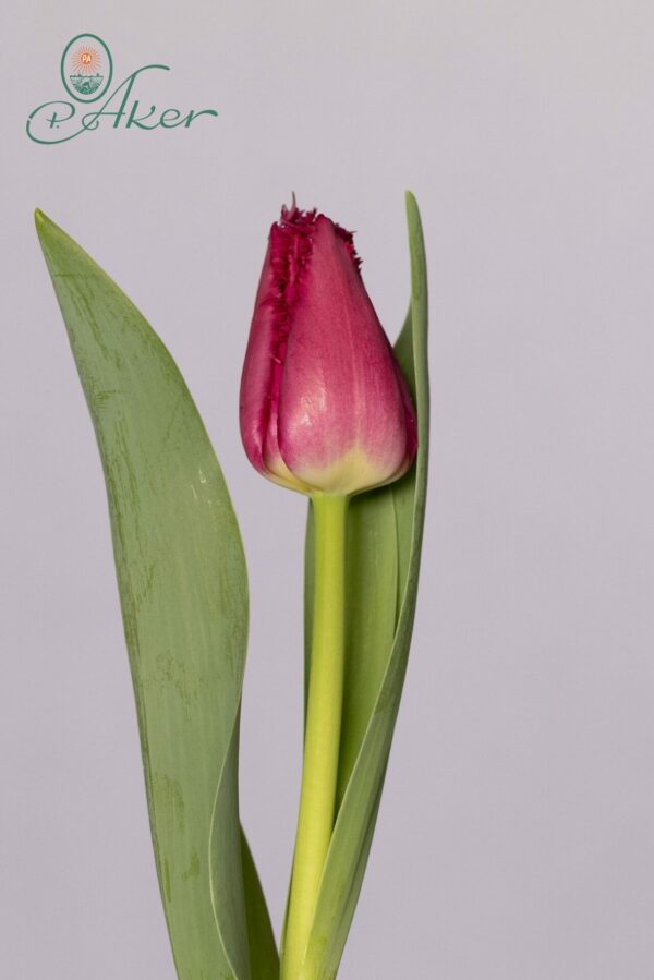
[[[415,465],[398,483],[355,497],[348,518],[348,645],[340,807],[304,958],[302,980],[334,980],[367,862],[413,629],[424,524],[429,395],[427,275],[415,198],[407,194],[411,304],[396,353],[419,421]],[[311,636],[312,535],[306,546]],[[354,613],[361,617],[354,619]],[[307,672],[308,673],[308,672]]]

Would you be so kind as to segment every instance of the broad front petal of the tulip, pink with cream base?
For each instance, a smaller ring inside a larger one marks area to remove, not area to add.
[[[318,216],[292,311],[278,423],[289,469],[341,493],[397,474],[407,452],[392,353],[348,244]]]

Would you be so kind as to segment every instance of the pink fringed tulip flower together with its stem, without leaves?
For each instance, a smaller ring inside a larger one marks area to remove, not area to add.
[[[349,231],[300,210],[294,198],[282,207],[241,379],[250,461],[310,494],[314,516],[311,670],[281,980],[314,980],[305,954],[336,810],[348,501],[397,480],[416,450],[411,396],[360,266]]]

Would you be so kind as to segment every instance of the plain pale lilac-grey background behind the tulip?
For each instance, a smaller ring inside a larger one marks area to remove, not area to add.
[[[12,7],[16,7],[12,4]],[[165,339],[250,562],[243,815],[277,929],[301,734],[303,503],[240,447],[265,237],[358,230],[397,334],[432,289],[412,661],[343,980],[654,976],[654,16],[646,2],[25,3],[2,25],[0,973],[173,980],[105,491],[38,205]],[[190,131],[24,134],[92,31]]]

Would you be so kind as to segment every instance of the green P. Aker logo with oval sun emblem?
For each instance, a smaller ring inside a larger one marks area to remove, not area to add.
[[[161,71],[169,72],[170,66],[144,64],[112,87],[113,59],[109,47],[97,34],[77,34],[61,56],[61,82],[69,98],[49,99],[33,109],[25,126],[27,136],[34,143],[52,146],[99,129],[187,130],[202,116],[218,116],[216,109],[159,109],[144,102],[142,93],[147,80],[153,72]],[[93,107],[86,110],[92,102]]]

